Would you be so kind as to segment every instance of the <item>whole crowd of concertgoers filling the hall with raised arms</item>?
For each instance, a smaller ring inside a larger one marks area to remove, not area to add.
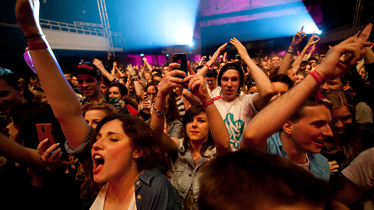
[[[5,208],[374,208],[371,23],[326,54],[302,27],[284,56],[62,72],[39,1],[15,12],[37,75],[0,68]]]

